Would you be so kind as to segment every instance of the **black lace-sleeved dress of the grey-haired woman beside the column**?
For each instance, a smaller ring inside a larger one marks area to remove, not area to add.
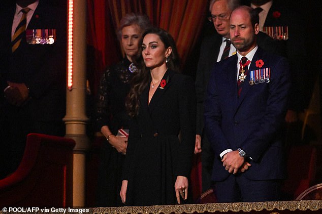
[[[96,103],[95,126],[100,132],[104,125],[109,126],[113,135],[120,128],[128,129],[130,117],[125,110],[125,97],[130,91],[133,74],[128,70],[130,61],[125,57],[116,65],[108,67],[100,81],[98,101]],[[121,172],[124,155],[119,153],[107,141],[100,151],[98,173],[98,206],[121,206]]]

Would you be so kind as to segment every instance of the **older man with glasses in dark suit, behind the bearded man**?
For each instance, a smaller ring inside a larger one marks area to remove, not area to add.
[[[227,42],[230,42],[229,34],[229,18],[232,11],[240,4],[239,0],[212,0],[209,4],[211,21],[216,29],[216,33],[204,38],[200,50],[198,69],[196,72],[196,95],[197,95],[197,131],[196,131],[196,147],[195,153],[202,150],[202,186],[203,191],[211,188],[211,173],[213,165],[213,151],[209,141],[204,133],[204,100],[206,88],[210,76],[212,66],[223,60],[222,57],[224,48]],[[229,40],[229,41],[226,41]],[[278,46],[263,32],[257,35],[258,45],[266,51],[272,53],[281,53]],[[233,44],[230,45],[230,50],[227,56],[232,56],[236,53],[236,48]],[[201,149],[202,148],[202,149]]]

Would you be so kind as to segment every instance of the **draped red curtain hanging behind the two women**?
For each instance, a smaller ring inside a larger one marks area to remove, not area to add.
[[[87,78],[93,94],[104,68],[122,58],[115,33],[122,16],[146,14],[154,26],[169,31],[183,68],[202,30],[207,7],[208,1],[196,0],[87,0]]]

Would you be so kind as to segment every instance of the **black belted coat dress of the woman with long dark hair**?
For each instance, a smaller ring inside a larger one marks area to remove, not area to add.
[[[126,205],[177,204],[174,185],[177,176],[190,178],[195,148],[194,81],[168,70],[150,104],[148,94],[149,87],[142,93],[139,114],[130,124],[122,176],[128,180]]]

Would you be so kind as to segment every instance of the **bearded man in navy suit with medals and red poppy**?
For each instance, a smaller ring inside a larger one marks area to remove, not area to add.
[[[235,9],[230,37],[237,54],[216,63],[209,79],[205,130],[215,153],[218,202],[278,200],[286,176],[281,124],[289,67],[285,58],[257,46],[258,33],[257,13]]]

